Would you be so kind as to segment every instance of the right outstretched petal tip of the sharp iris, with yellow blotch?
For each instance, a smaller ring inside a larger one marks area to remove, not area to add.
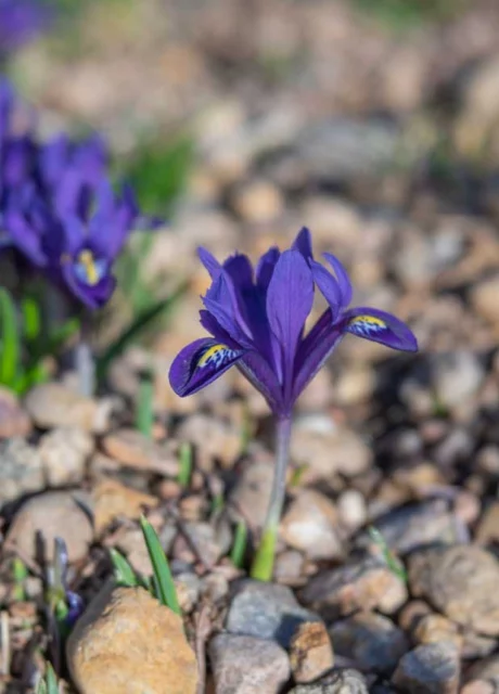
[[[358,307],[347,311],[341,321],[342,332],[401,349],[417,351],[418,340],[409,327],[398,318],[375,308]]]

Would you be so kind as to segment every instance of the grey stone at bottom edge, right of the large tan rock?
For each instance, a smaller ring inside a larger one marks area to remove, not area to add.
[[[220,633],[208,652],[215,694],[278,694],[290,678],[287,654],[272,641]]]

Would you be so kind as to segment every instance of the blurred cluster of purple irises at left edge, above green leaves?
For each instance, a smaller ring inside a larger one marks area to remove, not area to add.
[[[0,242],[90,309],[111,297],[113,262],[139,217],[132,192],[115,192],[103,141],[59,134],[40,143],[17,131],[18,104],[0,81]]]

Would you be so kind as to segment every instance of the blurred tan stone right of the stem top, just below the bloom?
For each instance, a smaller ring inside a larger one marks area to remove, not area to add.
[[[296,465],[306,466],[304,484],[312,484],[336,474],[362,474],[372,463],[372,451],[355,432],[324,432],[307,419],[298,420],[293,430],[291,458]]]

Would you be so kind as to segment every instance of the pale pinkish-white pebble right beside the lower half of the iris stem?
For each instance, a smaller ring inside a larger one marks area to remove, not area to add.
[[[338,558],[343,554],[333,502],[312,489],[298,492],[281,522],[281,537],[310,560]]]

